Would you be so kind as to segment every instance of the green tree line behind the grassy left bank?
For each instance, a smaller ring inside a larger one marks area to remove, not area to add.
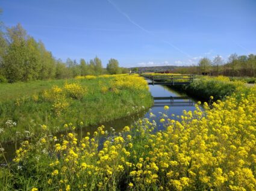
[[[67,58],[55,59],[42,41],[36,41],[20,24],[3,31],[0,24],[0,82],[17,82],[43,79],[64,79],[75,76],[128,73],[111,58],[107,68],[97,56],[86,62]]]

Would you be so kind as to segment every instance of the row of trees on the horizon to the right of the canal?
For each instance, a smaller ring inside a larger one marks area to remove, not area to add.
[[[212,60],[201,58],[198,65],[175,68],[176,73],[193,73],[203,75],[223,76],[256,76],[256,55],[231,54],[227,61],[217,55]]]

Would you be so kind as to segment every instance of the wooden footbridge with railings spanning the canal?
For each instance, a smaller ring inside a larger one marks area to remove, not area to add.
[[[149,76],[151,82],[148,85],[184,85],[192,83],[193,75],[166,75],[166,76]]]

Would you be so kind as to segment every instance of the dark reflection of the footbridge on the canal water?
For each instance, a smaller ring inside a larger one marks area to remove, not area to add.
[[[166,104],[171,106],[193,106],[193,101],[190,97],[154,97],[154,100],[170,100],[170,102],[154,102],[154,107],[163,107]],[[181,100],[181,101],[179,101]],[[186,100],[186,101],[184,101]],[[165,104],[165,105],[164,105]]]

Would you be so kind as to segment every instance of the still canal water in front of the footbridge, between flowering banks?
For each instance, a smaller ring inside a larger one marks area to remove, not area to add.
[[[163,114],[167,114],[168,117],[174,114],[175,116],[183,115],[183,111],[194,111],[195,103],[198,100],[192,99],[192,97],[187,96],[184,93],[175,91],[169,86],[163,85],[149,85],[149,91],[152,94],[152,97],[186,97],[184,100],[174,100],[171,102],[170,100],[155,100],[154,105],[150,109],[145,109],[145,111],[138,112],[136,115],[120,118],[118,120],[113,120],[108,123],[105,123],[105,130],[108,132],[110,130],[115,130],[115,132],[121,132],[123,127],[131,126],[135,121],[140,118],[149,118],[151,114],[154,114],[154,120],[157,123],[158,130],[163,129],[163,124],[159,122],[160,118]],[[164,111],[164,106],[169,106],[168,111]],[[137,109],[134,107],[134,109]],[[152,117],[151,117],[152,118]],[[173,117],[172,117],[173,118]],[[178,120],[178,118],[176,118]],[[97,126],[84,127],[83,129],[77,129],[76,133],[78,134],[78,138],[82,138],[86,136],[87,132],[90,132],[91,135],[95,132]],[[56,136],[59,137],[61,133],[58,133]],[[7,160],[13,159],[15,156],[15,148],[19,148],[19,145],[15,144],[5,144],[3,145],[5,148],[5,157]],[[3,163],[4,160],[0,158],[0,163]]]

